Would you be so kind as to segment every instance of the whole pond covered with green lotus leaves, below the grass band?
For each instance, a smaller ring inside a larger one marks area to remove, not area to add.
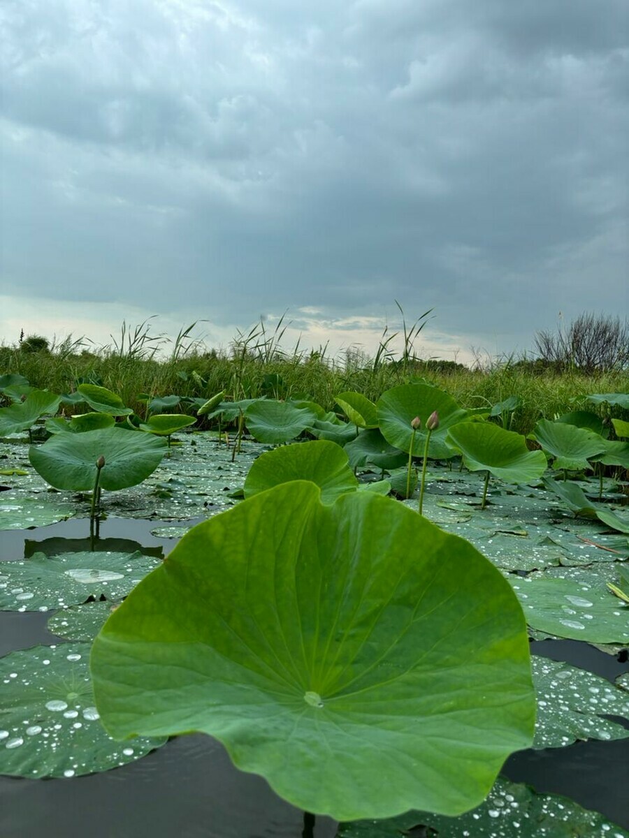
[[[0,834],[629,835],[626,396],[0,384]]]

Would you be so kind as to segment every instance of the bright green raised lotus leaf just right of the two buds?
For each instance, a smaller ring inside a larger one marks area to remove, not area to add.
[[[546,471],[541,451],[529,451],[519,433],[489,422],[461,422],[450,428],[446,442],[463,456],[470,471],[489,471],[508,483],[532,483]]]

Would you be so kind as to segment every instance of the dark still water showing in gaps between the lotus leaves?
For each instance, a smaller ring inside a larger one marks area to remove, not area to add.
[[[163,547],[167,554],[176,541],[150,534],[160,525],[164,522],[111,518],[101,524],[101,538],[132,543],[101,541],[99,546]],[[88,530],[83,519],[3,531],[0,561],[67,550],[67,542],[64,547],[56,540],[84,540]],[[89,546],[77,543],[70,549]],[[52,613],[0,612],[0,655],[62,643],[45,628]],[[629,668],[573,640],[544,640],[531,644],[531,650],[610,680]],[[540,792],[564,794],[629,828],[629,740],[523,751],[507,760],[503,773]],[[262,778],[234,768],[221,744],[203,734],[178,737],[136,763],[87,777],[0,777],[0,838],[299,838],[302,830],[302,812],[273,794]],[[334,821],[316,819],[314,838],[334,838],[335,832]]]

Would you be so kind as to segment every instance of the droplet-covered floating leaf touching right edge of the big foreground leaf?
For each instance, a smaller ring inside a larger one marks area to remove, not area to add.
[[[601,716],[629,718],[629,696],[606,678],[533,654],[538,695],[533,747],[564,747],[577,739],[625,739],[629,730]]]

